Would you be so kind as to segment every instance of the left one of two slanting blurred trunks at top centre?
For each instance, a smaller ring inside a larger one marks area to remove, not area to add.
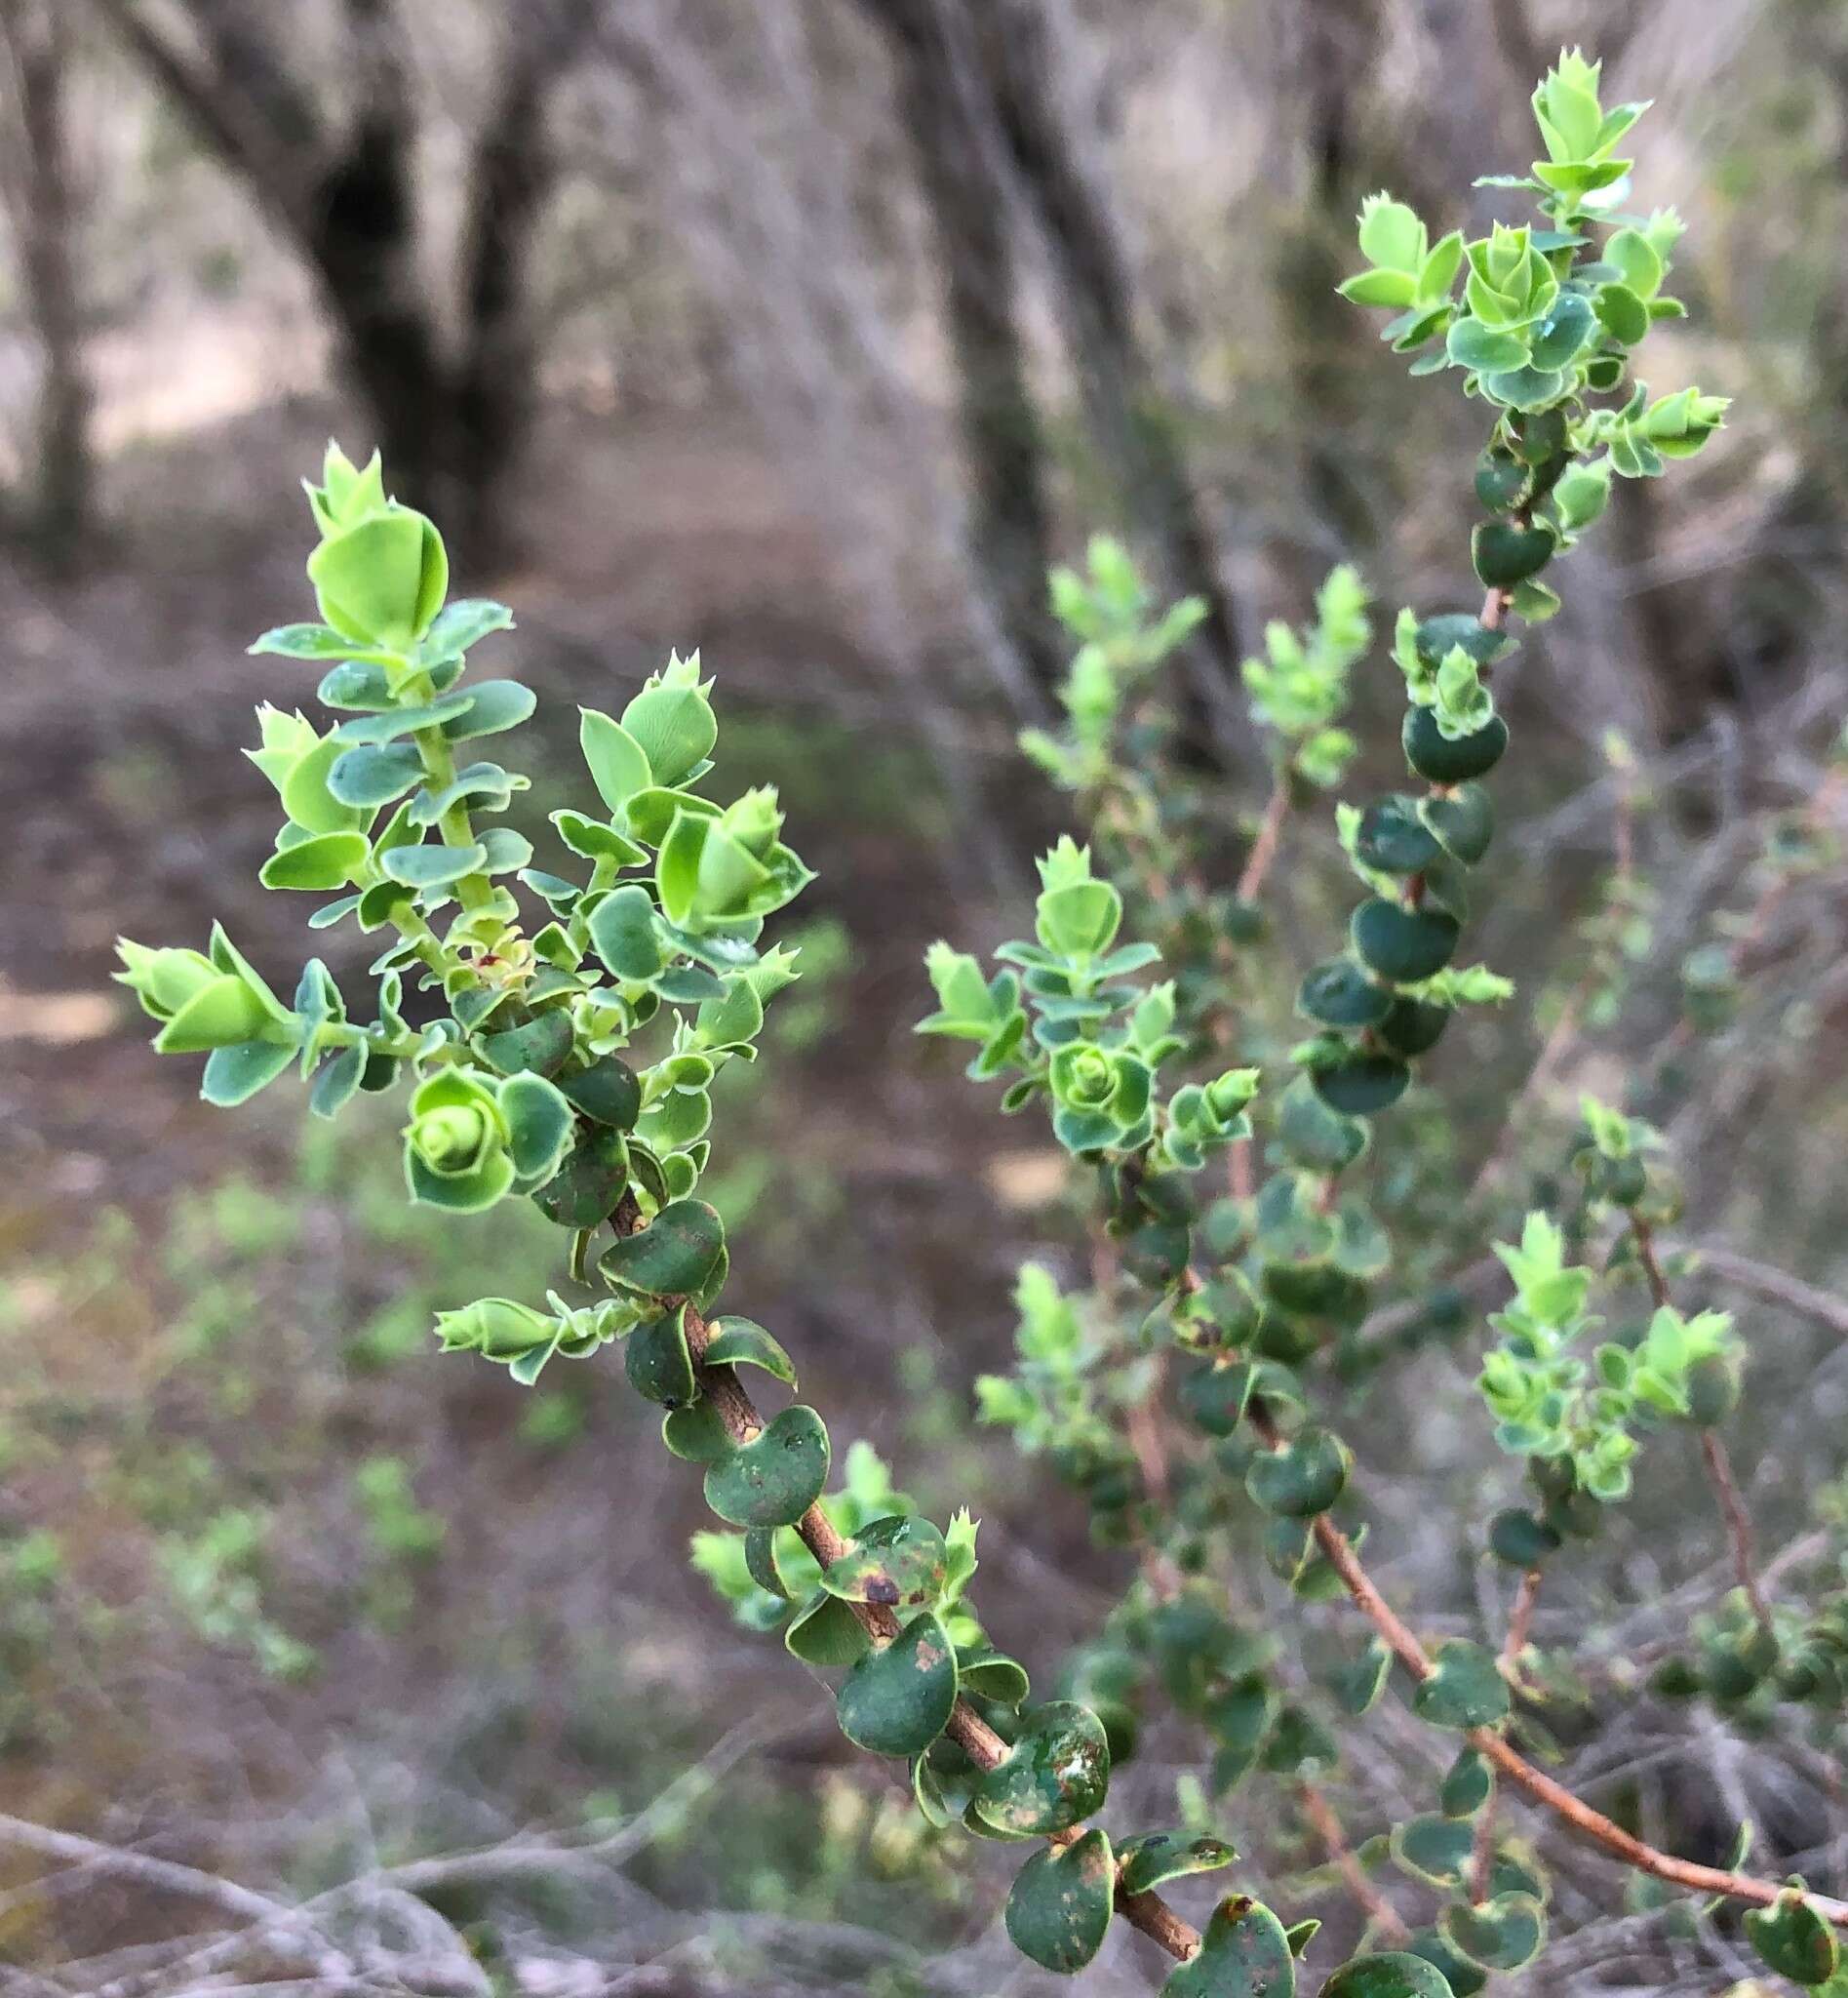
[[[1049,693],[1065,649],[1047,611],[1053,559],[1039,412],[1019,326],[1007,182],[957,0],[861,0],[887,36],[899,110],[943,270],[973,505],[971,559],[991,613]]]

